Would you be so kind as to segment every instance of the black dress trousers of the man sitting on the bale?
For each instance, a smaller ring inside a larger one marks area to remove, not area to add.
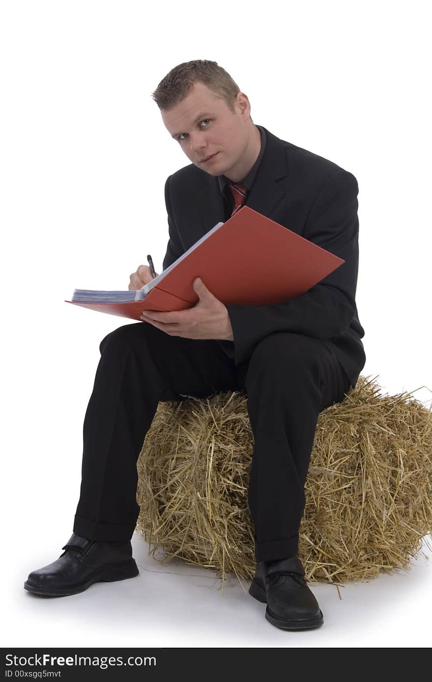
[[[236,367],[218,340],[169,336],[139,322],[109,333],[100,353],[85,413],[74,532],[100,541],[132,537],[139,514],[136,461],[160,400],[236,390],[247,395],[254,436],[248,505],[255,557],[296,554],[318,415],[350,387],[326,342],[273,333]]]

